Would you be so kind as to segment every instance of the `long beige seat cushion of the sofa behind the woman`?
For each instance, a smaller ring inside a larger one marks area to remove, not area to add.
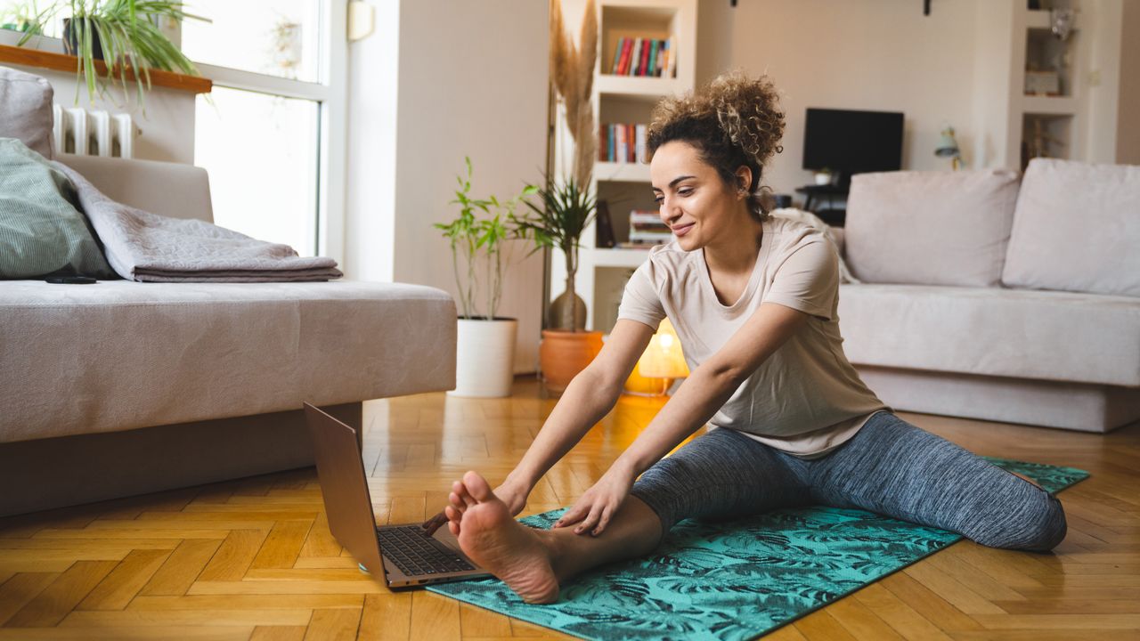
[[[840,285],[854,365],[1140,386],[1140,299],[933,285]]]

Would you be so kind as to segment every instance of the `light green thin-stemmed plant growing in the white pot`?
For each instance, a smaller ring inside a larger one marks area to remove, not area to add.
[[[487,200],[471,196],[471,159],[464,159],[467,176],[457,176],[459,184],[455,190],[455,200],[449,204],[459,205],[459,216],[451,222],[437,222],[434,227],[443,232],[443,237],[451,244],[451,266],[455,270],[455,284],[459,290],[459,307],[462,318],[487,318],[491,320],[498,311],[503,299],[504,267],[511,263],[511,244],[507,241],[520,236],[515,220],[515,210],[526,196],[536,192],[527,186],[513,198],[500,201],[496,196]],[[465,277],[461,274],[459,257],[466,266]],[[482,263],[483,278],[480,287],[479,268]],[[482,289],[486,297],[486,316],[480,316],[475,309],[475,299]]]

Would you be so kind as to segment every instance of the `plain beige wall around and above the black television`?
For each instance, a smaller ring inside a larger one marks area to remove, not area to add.
[[[811,181],[801,169],[807,107],[904,112],[904,169],[948,168],[934,148],[950,123],[972,162],[976,8],[936,0],[923,16],[919,0],[740,1],[730,17],[732,65],[771,75],[787,113],[767,184],[791,193]]]

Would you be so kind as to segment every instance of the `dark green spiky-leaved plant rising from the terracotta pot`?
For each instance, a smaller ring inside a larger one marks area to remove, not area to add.
[[[556,182],[546,177],[544,187],[531,187],[540,201],[536,204],[524,201],[530,210],[523,217],[515,218],[520,235],[530,238],[538,249],[557,248],[562,250],[567,267],[567,295],[572,303],[577,300],[575,292],[575,275],[578,273],[578,253],[581,249],[581,234],[594,220],[597,203],[588,189],[584,188],[572,177]],[[559,326],[585,330],[586,319],[578,318],[575,305],[562,307]]]

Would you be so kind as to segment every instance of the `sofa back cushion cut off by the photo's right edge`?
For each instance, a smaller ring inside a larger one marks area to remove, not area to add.
[[[1034,159],[1002,282],[1140,297],[1140,167]]]

